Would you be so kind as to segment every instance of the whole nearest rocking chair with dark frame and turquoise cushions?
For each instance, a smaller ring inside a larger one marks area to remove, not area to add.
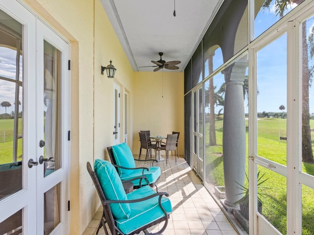
[[[96,161],[95,172],[89,162],[87,162],[87,170],[104,208],[105,220],[102,220],[104,229],[106,228],[105,223],[108,223],[112,235],[134,235],[141,231],[147,233],[148,228],[165,221],[163,226],[160,226],[160,230],[154,233],[154,235],[161,235],[168,225],[169,214],[172,212],[171,202],[167,198],[168,193],[155,192],[153,188],[143,186],[124,194],[122,182],[114,166],[105,160],[97,159]],[[105,171],[105,173],[101,171]],[[117,197],[117,199],[108,200],[105,195]],[[118,199],[124,196],[127,197],[126,200]],[[123,204],[130,208],[129,213],[124,211],[127,216],[122,216],[121,208],[112,207],[112,205],[121,207]],[[115,214],[119,214],[120,218],[117,218]]]

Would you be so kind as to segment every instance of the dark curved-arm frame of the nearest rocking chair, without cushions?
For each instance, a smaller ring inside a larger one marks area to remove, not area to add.
[[[169,214],[167,214],[167,212],[164,210],[164,208],[162,207],[161,205],[161,197],[162,196],[169,196],[168,193],[166,192],[157,192],[157,193],[154,193],[153,195],[150,195],[148,197],[144,197],[144,198],[139,198],[139,199],[136,199],[136,200],[106,200],[105,198],[105,194],[104,194],[104,191],[103,191],[103,188],[101,187],[100,185],[100,182],[99,182],[99,179],[97,177],[97,174],[96,172],[93,170],[93,168],[91,167],[90,163],[87,162],[86,164],[86,167],[87,167],[87,171],[90,175],[90,177],[92,178],[93,180],[93,183],[94,183],[94,186],[97,190],[97,193],[99,195],[99,198],[102,202],[102,205],[103,205],[103,209],[104,209],[104,212],[103,212],[103,218],[101,219],[101,223],[104,227],[104,230],[105,230],[105,234],[108,235],[108,232],[106,230],[106,227],[105,227],[105,223],[108,224],[108,227],[109,227],[109,230],[111,232],[111,235],[125,235],[124,233],[122,233],[116,226],[116,223],[115,223],[115,220],[114,220],[114,217],[111,213],[111,209],[109,207],[109,204],[110,203],[135,203],[135,202],[140,202],[140,201],[145,201],[145,200],[148,200],[150,198],[153,198],[153,197],[156,197],[158,196],[159,197],[159,200],[158,200],[158,203],[159,203],[159,206],[161,208],[161,210],[164,212],[165,216],[141,227],[141,228],[138,228],[137,230],[133,231],[132,233],[128,234],[128,235],[134,235],[134,234],[139,234],[141,231],[143,231],[145,234],[148,234],[148,235],[161,235],[167,225],[168,225],[168,220],[169,220]],[[164,225],[162,226],[162,228],[156,232],[156,233],[148,233],[147,229],[154,226],[154,225],[157,225],[161,222],[165,221]]]

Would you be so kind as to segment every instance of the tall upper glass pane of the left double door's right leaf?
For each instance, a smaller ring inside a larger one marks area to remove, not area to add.
[[[44,41],[44,175],[61,167],[61,52]]]

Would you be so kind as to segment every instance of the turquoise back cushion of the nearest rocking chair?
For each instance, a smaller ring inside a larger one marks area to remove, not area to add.
[[[121,179],[115,167],[108,161],[96,159],[94,171],[108,200],[128,200]],[[115,218],[129,218],[131,209],[128,203],[110,203],[110,209]]]

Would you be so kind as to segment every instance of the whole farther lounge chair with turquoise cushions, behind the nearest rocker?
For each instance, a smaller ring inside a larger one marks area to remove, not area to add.
[[[157,188],[157,181],[160,178],[160,167],[154,166],[154,162],[157,162],[155,159],[150,160],[137,160],[133,158],[132,152],[128,144],[120,143],[107,147],[110,161],[115,165],[121,180],[130,180],[138,176],[147,177],[148,184]],[[135,161],[139,162],[153,162],[151,167],[135,167]],[[134,188],[139,188],[140,186],[147,185],[147,182],[144,180],[134,180],[132,181]]]

